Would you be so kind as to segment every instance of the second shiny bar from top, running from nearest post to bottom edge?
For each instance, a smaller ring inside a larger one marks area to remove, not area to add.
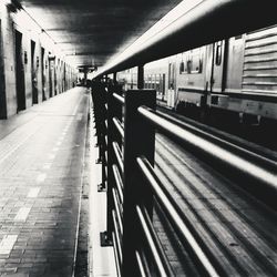
[[[178,229],[178,234],[183,237],[183,239],[189,245],[192,252],[195,254],[195,257],[197,258],[199,265],[203,266],[204,270],[208,276],[217,276],[219,277],[219,274],[214,268],[209,259],[207,258],[206,254],[202,250],[198,243],[195,240],[194,236],[187,228],[187,226],[184,224],[182,217],[176,212],[172,203],[168,201],[162,188],[160,187],[157,183],[157,177],[152,168],[152,166],[148,164],[147,160],[144,157],[137,157],[136,158],[137,165],[144,176],[146,177],[148,184],[151,185],[152,189],[154,191],[160,204],[163,206],[163,208],[168,214],[170,218],[175,225],[175,228]]]

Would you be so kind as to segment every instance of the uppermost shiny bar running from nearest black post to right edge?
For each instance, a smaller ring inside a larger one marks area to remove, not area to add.
[[[276,172],[270,172],[266,168],[255,165],[244,157],[239,157],[234,153],[213,144],[212,142],[202,138],[192,132],[188,132],[181,126],[172,123],[168,120],[157,115],[153,110],[145,106],[137,109],[138,113],[145,117],[148,122],[154,124],[160,130],[165,131],[170,136],[176,137],[179,141],[189,144],[194,148],[202,151],[213,158],[220,161],[222,163],[232,166],[236,171],[244,175],[250,176],[255,181],[263,183],[274,194],[277,194],[277,175]]]

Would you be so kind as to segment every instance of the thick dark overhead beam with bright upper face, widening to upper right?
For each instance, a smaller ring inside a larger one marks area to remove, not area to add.
[[[277,22],[274,0],[204,0],[95,73],[119,72]]]

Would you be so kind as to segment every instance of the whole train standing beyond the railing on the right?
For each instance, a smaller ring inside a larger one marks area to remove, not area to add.
[[[136,88],[137,69],[117,73]],[[199,119],[277,122],[277,25],[216,41],[144,65],[157,103]],[[213,116],[211,116],[213,115]]]

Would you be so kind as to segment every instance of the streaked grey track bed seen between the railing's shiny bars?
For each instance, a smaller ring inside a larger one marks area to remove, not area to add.
[[[275,157],[266,148],[237,142],[267,160]],[[222,276],[277,276],[276,211],[162,134],[156,135],[155,171]],[[202,276],[158,206],[154,218],[176,276]]]

